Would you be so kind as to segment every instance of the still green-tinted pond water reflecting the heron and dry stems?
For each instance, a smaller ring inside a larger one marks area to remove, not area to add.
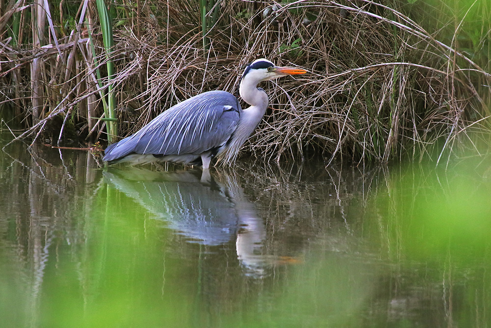
[[[490,162],[0,156],[1,327],[489,327]]]

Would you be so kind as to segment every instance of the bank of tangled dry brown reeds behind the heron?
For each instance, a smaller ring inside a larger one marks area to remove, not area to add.
[[[245,154],[328,164],[488,149],[490,1],[412,2],[116,1],[110,46],[94,1],[9,2],[1,110],[23,122],[17,139],[104,143],[115,120],[121,138],[197,93],[235,93],[266,57],[309,74],[265,86],[270,109]]]

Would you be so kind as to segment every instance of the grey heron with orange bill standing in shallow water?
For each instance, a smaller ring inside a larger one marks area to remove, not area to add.
[[[266,59],[254,60],[246,67],[239,86],[240,96],[250,107],[242,109],[238,99],[226,91],[198,94],[108,146],[103,160],[130,164],[179,162],[202,165],[205,170],[215,157],[231,162],[266,113],[268,95],[257,85],[306,72],[276,66]]]

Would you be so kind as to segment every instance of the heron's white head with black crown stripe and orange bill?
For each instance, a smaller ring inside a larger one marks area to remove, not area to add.
[[[263,81],[274,80],[282,76],[307,73],[304,69],[295,67],[280,67],[271,61],[261,58],[251,62],[242,75],[241,84],[257,85]]]

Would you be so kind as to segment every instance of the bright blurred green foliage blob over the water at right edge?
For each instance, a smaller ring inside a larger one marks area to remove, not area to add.
[[[394,175],[374,205],[391,233],[387,243],[397,245],[391,250],[411,260],[452,255],[465,262],[486,254],[491,167],[479,172],[485,165],[466,160],[448,171],[414,166]]]

